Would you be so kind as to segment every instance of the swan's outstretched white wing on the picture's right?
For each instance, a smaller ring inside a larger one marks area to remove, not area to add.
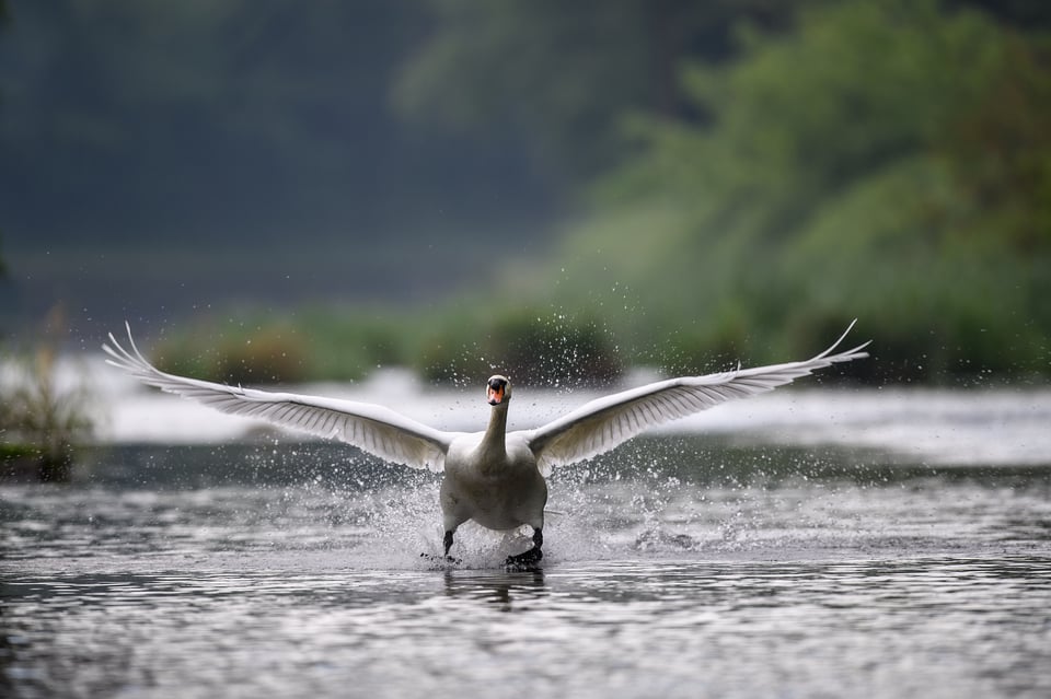
[[[739,369],[707,376],[683,376],[598,398],[568,415],[524,433],[541,471],[590,458],[658,424],[700,412],[734,398],[773,391],[838,362],[868,357],[868,342],[833,354],[854,323],[835,343],[813,359]]]

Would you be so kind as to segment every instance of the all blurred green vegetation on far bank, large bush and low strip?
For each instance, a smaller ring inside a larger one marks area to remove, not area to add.
[[[737,40],[683,58],[678,112],[622,115],[630,155],[592,167],[550,264],[509,254],[494,292],[425,311],[233,314],[166,351],[226,335],[206,373],[229,377],[268,357],[273,377],[602,380],[802,358],[859,317],[861,380],[1051,375],[1049,35],[888,0],[800,3]]]

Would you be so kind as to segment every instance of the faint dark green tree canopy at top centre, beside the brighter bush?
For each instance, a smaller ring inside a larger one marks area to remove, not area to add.
[[[402,114],[459,129],[520,135],[538,160],[579,184],[624,153],[625,112],[686,109],[686,56],[725,58],[741,21],[775,27],[809,0],[434,0],[436,30],[400,75]]]

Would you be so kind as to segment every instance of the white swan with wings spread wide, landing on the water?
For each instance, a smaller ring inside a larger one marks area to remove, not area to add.
[[[855,321],[856,323],[856,321]],[[663,424],[735,398],[746,398],[807,376],[840,362],[868,357],[869,342],[833,353],[854,323],[829,349],[798,362],[683,376],[615,393],[592,400],[543,427],[507,432],[511,382],[503,375],[485,384],[489,421],[484,432],[444,432],[390,408],[276,393],[169,374],[140,352],[125,324],[125,349],[109,334],[103,345],[106,363],[145,384],[192,398],[223,412],[259,418],[326,439],[348,442],[382,459],[442,473],[439,489],[444,558],[457,528],[472,520],[483,527],[532,528],[532,548],[509,556],[508,567],[530,567],[543,558],[544,506],[551,469],[591,458],[648,428]]]

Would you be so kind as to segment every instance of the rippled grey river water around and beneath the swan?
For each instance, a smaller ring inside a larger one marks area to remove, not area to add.
[[[430,474],[117,416],[0,484],[0,695],[1051,696],[1051,398],[787,395],[556,471],[531,572],[420,558]]]

